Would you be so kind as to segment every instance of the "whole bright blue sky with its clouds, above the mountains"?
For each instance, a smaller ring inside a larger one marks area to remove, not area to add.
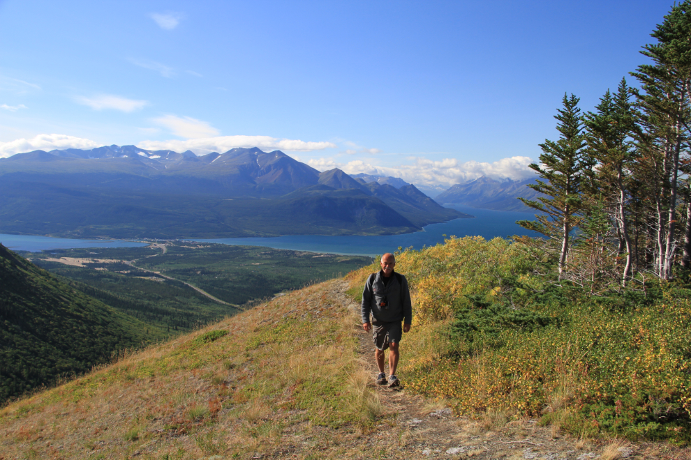
[[[671,4],[0,0],[0,157],[259,146],[426,188],[523,178],[564,93],[593,109]]]

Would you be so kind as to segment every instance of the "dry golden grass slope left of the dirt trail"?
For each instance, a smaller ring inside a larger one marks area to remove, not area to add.
[[[320,427],[366,432],[381,407],[357,361],[359,321],[328,289],[276,298],[6,406],[0,458],[284,458]]]

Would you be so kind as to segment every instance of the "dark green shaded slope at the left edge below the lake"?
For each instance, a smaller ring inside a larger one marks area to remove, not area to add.
[[[0,401],[89,371],[163,332],[73,289],[0,245]]]

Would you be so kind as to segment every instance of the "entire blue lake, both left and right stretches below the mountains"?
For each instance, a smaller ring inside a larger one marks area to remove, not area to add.
[[[431,224],[424,231],[385,236],[320,236],[320,235],[287,235],[275,238],[218,238],[198,239],[185,238],[208,243],[226,245],[267,246],[276,249],[288,249],[312,252],[332,252],[335,254],[358,254],[376,256],[393,252],[399,247],[433,246],[443,243],[450,236],[482,236],[489,240],[496,236],[507,238],[513,235],[538,236],[516,224],[517,220],[532,220],[533,214],[510,211],[449,206],[462,213],[474,215],[474,219],[456,219],[443,224]],[[446,236],[445,236],[446,235]],[[184,238],[181,236],[181,238]],[[141,247],[146,243],[131,240],[76,240],[68,238],[50,238],[47,236],[5,235],[0,234],[0,243],[13,250],[37,252],[42,250],[68,249],[76,247]]]

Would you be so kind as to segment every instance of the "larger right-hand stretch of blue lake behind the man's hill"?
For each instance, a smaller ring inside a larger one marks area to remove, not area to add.
[[[225,245],[267,246],[276,249],[331,252],[334,254],[357,254],[377,256],[385,252],[394,252],[399,247],[421,249],[443,243],[449,236],[482,236],[486,240],[501,236],[513,235],[539,236],[533,231],[523,229],[516,224],[517,220],[532,220],[533,214],[488,209],[467,208],[465,206],[448,206],[462,213],[475,215],[474,219],[456,219],[442,224],[431,224],[424,231],[405,233],[403,235],[383,236],[320,236],[320,235],[286,235],[276,238],[218,238],[197,239],[207,243]],[[446,237],[444,236],[446,235]]]

